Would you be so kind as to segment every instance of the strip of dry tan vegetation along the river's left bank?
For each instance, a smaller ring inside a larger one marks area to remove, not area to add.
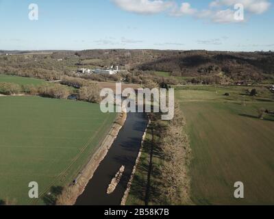
[[[110,147],[116,139],[120,129],[125,124],[126,119],[126,113],[121,113],[119,115],[116,122],[110,129],[110,132],[101,142],[101,146],[97,152],[91,157],[88,164],[82,170],[81,175],[77,177],[77,183],[75,185],[69,185],[64,189],[63,194],[58,198],[58,205],[75,205],[77,198],[83,194],[86,189],[86,185],[88,185],[88,182],[92,179],[95,171],[108,154]]]

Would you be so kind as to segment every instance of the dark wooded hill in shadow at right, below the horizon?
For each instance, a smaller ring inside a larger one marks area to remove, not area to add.
[[[185,51],[140,64],[138,68],[166,71],[174,76],[224,73],[232,79],[263,79],[274,75],[274,53]]]

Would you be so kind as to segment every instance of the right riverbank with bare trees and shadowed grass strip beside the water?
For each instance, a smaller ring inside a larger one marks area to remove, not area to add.
[[[192,205],[188,166],[191,149],[184,116],[163,121],[151,115],[134,179],[122,205]]]

